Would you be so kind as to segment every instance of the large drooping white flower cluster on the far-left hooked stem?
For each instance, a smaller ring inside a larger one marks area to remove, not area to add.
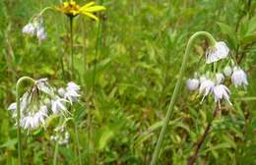
[[[78,101],[79,93],[80,86],[76,83],[68,83],[63,93],[59,94],[54,87],[47,83],[47,79],[35,81],[34,85],[20,99],[21,127],[32,130],[39,126],[45,126],[46,118],[53,114],[66,117],[70,114],[67,104],[72,106],[74,102]],[[13,118],[17,119],[17,103],[12,103],[8,110],[11,110]]]

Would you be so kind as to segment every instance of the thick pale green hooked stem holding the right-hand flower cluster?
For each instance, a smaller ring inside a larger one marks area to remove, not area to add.
[[[165,118],[163,120],[163,125],[162,125],[161,130],[160,130],[160,137],[158,139],[158,143],[157,143],[157,146],[156,146],[154,154],[153,154],[151,165],[156,165],[157,164],[159,154],[160,154],[160,146],[161,146],[162,140],[164,138],[164,134],[166,132],[166,128],[167,128],[169,119],[171,118],[171,116],[173,114],[173,106],[174,106],[174,103],[176,102],[176,99],[177,99],[177,96],[178,96],[178,91],[179,91],[179,88],[181,86],[182,79],[184,77],[184,73],[185,73],[185,70],[186,70],[188,55],[189,55],[189,52],[192,48],[193,41],[198,36],[205,36],[210,41],[210,44],[212,46],[214,46],[215,43],[216,43],[216,40],[213,37],[213,35],[211,33],[207,32],[207,31],[197,31],[189,38],[188,44],[187,44],[187,47],[186,47],[186,50],[185,50],[185,55],[183,56],[182,65],[181,65],[181,68],[179,70],[179,74],[178,74],[179,77],[178,77],[178,80],[175,84],[175,88],[174,88],[173,94],[172,94],[170,102],[169,102],[168,110],[167,110],[167,113],[166,113]]]

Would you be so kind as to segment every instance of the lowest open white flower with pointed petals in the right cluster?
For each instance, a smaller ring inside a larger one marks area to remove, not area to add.
[[[224,84],[218,84],[214,87],[214,96],[215,102],[219,104],[219,108],[221,108],[221,100],[226,100],[230,105],[232,103],[229,101],[229,89]]]

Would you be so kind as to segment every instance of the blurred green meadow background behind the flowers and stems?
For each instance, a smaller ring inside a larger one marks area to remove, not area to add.
[[[89,1],[77,1],[85,4]],[[74,118],[78,124],[83,164],[148,165],[174,89],[188,38],[198,30],[224,40],[248,75],[246,90],[231,89],[232,106],[224,106],[206,138],[197,164],[256,165],[256,1],[254,0],[98,0],[106,10],[96,23],[74,19],[75,78],[69,73],[69,22],[47,11],[47,39],[38,43],[22,28],[33,15],[58,0],[0,1],[0,164],[16,165],[15,121],[7,110],[15,101],[22,76],[47,78],[82,87]],[[213,100],[200,104],[185,82],[204,56],[208,42],[197,39],[190,53],[174,114],[167,127],[160,165],[183,165],[202,136]],[[89,122],[91,124],[89,125]],[[23,131],[25,164],[52,164],[56,121],[46,129]],[[58,164],[77,164],[75,130],[59,146]]]

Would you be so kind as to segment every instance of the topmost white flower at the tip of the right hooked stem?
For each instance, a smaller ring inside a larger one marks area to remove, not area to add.
[[[223,41],[216,42],[206,51],[206,63],[211,64],[227,57],[229,48]]]

